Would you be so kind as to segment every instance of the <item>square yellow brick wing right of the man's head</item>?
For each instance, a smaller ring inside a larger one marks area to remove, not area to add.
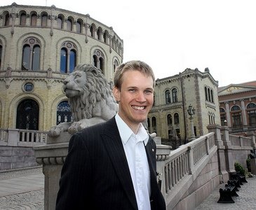
[[[149,132],[166,141],[173,133],[179,138],[178,144],[191,140],[191,120],[187,109],[191,104],[194,135],[208,133],[210,124],[220,125],[220,110],[217,96],[218,82],[198,69],[186,69],[175,76],[156,80],[154,106],[148,116]],[[167,140],[168,139],[168,140]]]

